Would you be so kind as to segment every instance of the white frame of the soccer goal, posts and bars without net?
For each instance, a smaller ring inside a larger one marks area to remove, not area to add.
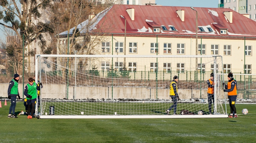
[[[41,78],[41,72],[38,69],[41,69],[40,67],[40,57],[66,57],[66,58],[143,58],[143,57],[151,57],[151,58],[180,58],[180,57],[187,57],[187,58],[214,58],[220,57],[222,61],[222,56],[205,56],[205,55],[137,55],[137,56],[131,56],[131,55],[36,55],[36,62],[35,62],[35,80],[40,80],[42,79],[37,79],[37,77]],[[223,63],[222,63],[223,65]],[[216,60],[214,62],[214,76],[222,75],[223,77],[223,68],[222,74],[216,72]],[[219,79],[222,80],[222,79]],[[223,79],[224,80],[224,79]],[[44,83],[43,83],[44,84]],[[75,85],[76,86],[76,85]],[[44,87],[46,87],[44,85]],[[76,87],[74,87],[76,90]],[[217,87],[216,85],[214,86],[215,89],[221,88],[221,86]],[[42,89],[45,90],[45,89]],[[46,89],[47,90],[47,89]],[[220,92],[220,91],[218,91]],[[41,92],[42,93],[42,92]],[[218,93],[220,94],[220,93]],[[216,94],[214,94],[216,96]],[[225,95],[224,95],[225,97]],[[214,97],[215,98],[215,97]],[[215,98],[216,99],[216,98]],[[40,101],[42,100],[42,96],[40,96]],[[224,103],[226,107],[226,97]],[[49,113],[46,115],[45,112],[42,112],[43,106],[42,106],[42,101],[41,101],[41,106],[40,106],[40,111],[37,109],[36,105],[36,115],[37,118],[41,119],[54,119],[54,118],[63,118],[63,119],[70,119],[70,118],[227,118],[227,111],[224,111],[224,113],[220,114],[216,112],[217,110],[217,100],[214,101],[214,107],[213,111],[216,114],[211,114],[211,115],[119,115],[118,113],[112,114],[112,115],[49,115]],[[227,110],[227,109],[226,109]]]

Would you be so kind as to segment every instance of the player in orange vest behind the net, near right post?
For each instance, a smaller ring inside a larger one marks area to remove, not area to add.
[[[214,80],[213,80],[214,74],[210,74],[210,79],[207,80],[208,84],[208,90],[207,90],[207,95],[208,95],[208,109],[209,113],[212,113],[212,104],[214,104]]]

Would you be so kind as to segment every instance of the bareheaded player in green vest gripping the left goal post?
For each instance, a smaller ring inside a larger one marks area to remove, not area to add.
[[[35,105],[37,103],[37,90],[40,90],[40,87],[34,83],[32,77],[28,78],[28,84],[24,88],[24,95],[27,97],[28,119],[32,118],[35,110]]]

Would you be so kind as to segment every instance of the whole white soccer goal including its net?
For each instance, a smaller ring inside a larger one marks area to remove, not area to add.
[[[36,55],[35,77],[43,83],[36,112],[38,118],[226,118],[222,65],[221,56]],[[181,100],[178,115],[167,115],[175,75]]]

